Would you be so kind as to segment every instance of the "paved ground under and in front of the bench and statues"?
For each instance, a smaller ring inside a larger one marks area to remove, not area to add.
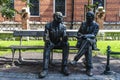
[[[25,58],[42,59],[42,55],[39,53],[23,53],[22,55]],[[61,59],[61,56],[61,54],[54,54],[54,59]],[[11,55],[6,55],[5,57],[11,58]],[[17,58],[18,56],[16,55],[15,57]],[[73,57],[74,55],[70,55],[69,61],[71,61]],[[49,74],[43,79],[38,78],[38,72],[41,71],[41,64],[17,67],[10,67],[8,65],[7,67],[0,66],[0,80],[120,80],[120,60],[111,60],[111,70],[116,73],[113,75],[102,75],[101,73],[105,70],[106,57],[93,57],[93,77],[87,76],[84,71],[82,71],[84,67],[81,65],[81,59],[79,62],[76,66],[68,65],[72,72],[69,76],[60,74],[59,70],[61,66],[59,64],[50,66]]]

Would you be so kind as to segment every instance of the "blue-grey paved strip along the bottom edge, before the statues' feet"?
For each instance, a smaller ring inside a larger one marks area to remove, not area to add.
[[[45,78],[39,79],[37,74],[0,72],[0,80],[120,80],[120,74],[115,73],[114,75],[94,75],[93,77],[88,77],[84,74],[71,74],[66,77],[59,73],[51,73]]]

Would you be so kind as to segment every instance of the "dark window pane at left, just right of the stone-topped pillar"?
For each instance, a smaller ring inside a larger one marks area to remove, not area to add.
[[[32,7],[30,7],[30,15],[39,16],[39,0],[29,0],[29,3],[32,4]]]

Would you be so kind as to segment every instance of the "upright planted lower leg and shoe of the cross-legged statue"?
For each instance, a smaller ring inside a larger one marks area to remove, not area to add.
[[[90,44],[88,44],[88,47],[86,48],[85,59],[86,59],[86,73],[88,76],[93,76],[93,73],[91,72],[91,69],[93,68],[92,46]]]

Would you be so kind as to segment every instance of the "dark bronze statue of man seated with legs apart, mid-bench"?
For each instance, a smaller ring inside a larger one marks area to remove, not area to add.
[[[48,74],[50,51],[54,48],[62,49],[63,54],[61,73],[68,76],[69,71],[67,69],[67,60],[69,55],[69,43],[66,34],[66,26],[63,24],[63,15],[61,12],[54,13],[53,21],[45,25],[43,39],[45,41],[43,70],[39,74],[39,77],[44,78]]]

